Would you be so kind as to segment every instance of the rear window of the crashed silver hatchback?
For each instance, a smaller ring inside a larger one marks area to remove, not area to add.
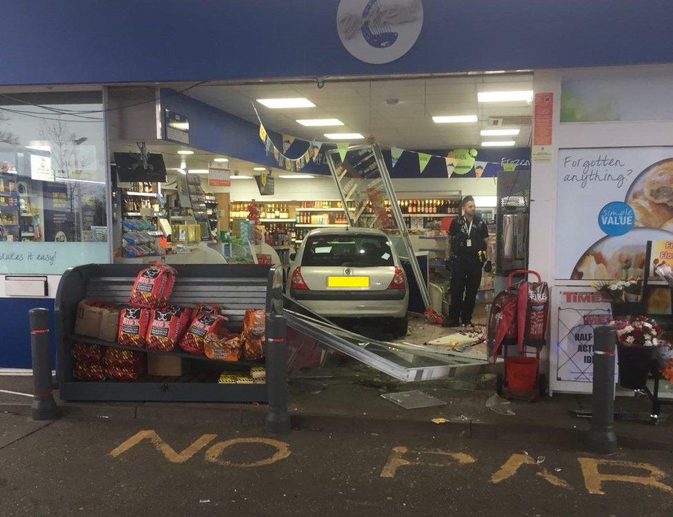
[[[301,265],[376,267],[395,263],[386,237],[347,234],[310,237],[304,247]]]

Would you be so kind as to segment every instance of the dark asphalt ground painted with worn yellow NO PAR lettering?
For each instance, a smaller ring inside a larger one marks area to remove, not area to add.
[[[0,414],[2,516],[673,515],[673,454]]]

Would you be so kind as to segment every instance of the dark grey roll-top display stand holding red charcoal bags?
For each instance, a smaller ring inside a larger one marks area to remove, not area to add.
[[[182,351],[159,352],[126,347],[73,334],[77,304],[83,299],[128,302],[136,274],[146,265],[89,264],[72,267],[61,278],[55,301],[57,375],[59,395],[65,401],[209,401],[267,402],[274,398],[265,384],[218,384],[223,370],[248,371],[251,365],[265,365],[267,377],[285,378],[280,361],[225,363]],[[283,346],[285,336],[275,336],[270,321],[282,317],[281,271],[269,265],[198,264],[175,265],[177,278],[170,301],[176,305],[212,302],[223,307],[228,327],[240,332],[246,309],[265,309],[266,348]],[[137,381],[83,382],[72,378],[72,345],[78,341],[137,350],[148,354],[182,356],[189,359],[190,372],[181,377],[141,376]],[[282,369],[282,372],[273,371]],[[287,396],[283,397],[286,403]],[[281,401],[282,402],[282,401]]]

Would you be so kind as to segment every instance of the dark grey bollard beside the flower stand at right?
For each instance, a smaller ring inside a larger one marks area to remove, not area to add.
[[[617,452],[614,434],[614,329],[594,330],[594,382],[591,399],[589,444],[598,454]]]

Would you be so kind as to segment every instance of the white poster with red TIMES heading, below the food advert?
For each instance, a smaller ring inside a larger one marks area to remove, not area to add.
[[[587,287],[555,287],[552,311],[550,389],[590,393],[593,380],[594,329],[612,319],[610,303]],[[615,357],[616,363],[616,357]],[[617,381],[615,365],[615,382]]]

